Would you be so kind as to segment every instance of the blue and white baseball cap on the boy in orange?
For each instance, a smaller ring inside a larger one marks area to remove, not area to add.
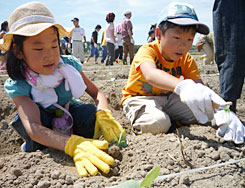
[[[196,31],[198,33],[207,35],[209,28],[207,25],[199,22],[194,8],[187,3],[173,2],[168,6],[168,11],[165,11],[160,16],[157,25],[168,21],[176,25],[196,25]]]

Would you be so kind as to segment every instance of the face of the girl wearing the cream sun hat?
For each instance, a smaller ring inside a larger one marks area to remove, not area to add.
[[[50,27],[36,36],[27,37],[23,43],[23,53],[23,59],[32,71],[52,74],[60,58],[56,30]]]

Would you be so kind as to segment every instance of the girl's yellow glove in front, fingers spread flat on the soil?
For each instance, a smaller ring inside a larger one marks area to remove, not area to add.
[[[98,169],[108,174],[114,159],[101,151],[108,148],[107,141],[87,139],[71,135],[65,146],[65,153],[73,157],[75,166],[80,176],[97,175]],[[98,169],[97,169],[97,168]],[[87,172],[88,171],[88,172]]]

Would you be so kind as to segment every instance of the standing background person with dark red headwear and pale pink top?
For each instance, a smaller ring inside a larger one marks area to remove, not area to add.
[[[114,20],[115,14],[113,12],[110,12],[106,15],[106,21],[108,23],[105,29],[105,40],[107,48],[106,65],[113,65],[113,61],[115,60],[116,37],[114,35]]]

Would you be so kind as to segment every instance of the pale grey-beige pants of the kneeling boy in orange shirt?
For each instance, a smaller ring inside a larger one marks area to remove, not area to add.
[[[178,95],[134,96],[125,100],[123,111],[134,129],[141,133],[166,133],[171,121],[197,123],[189,107]]]

